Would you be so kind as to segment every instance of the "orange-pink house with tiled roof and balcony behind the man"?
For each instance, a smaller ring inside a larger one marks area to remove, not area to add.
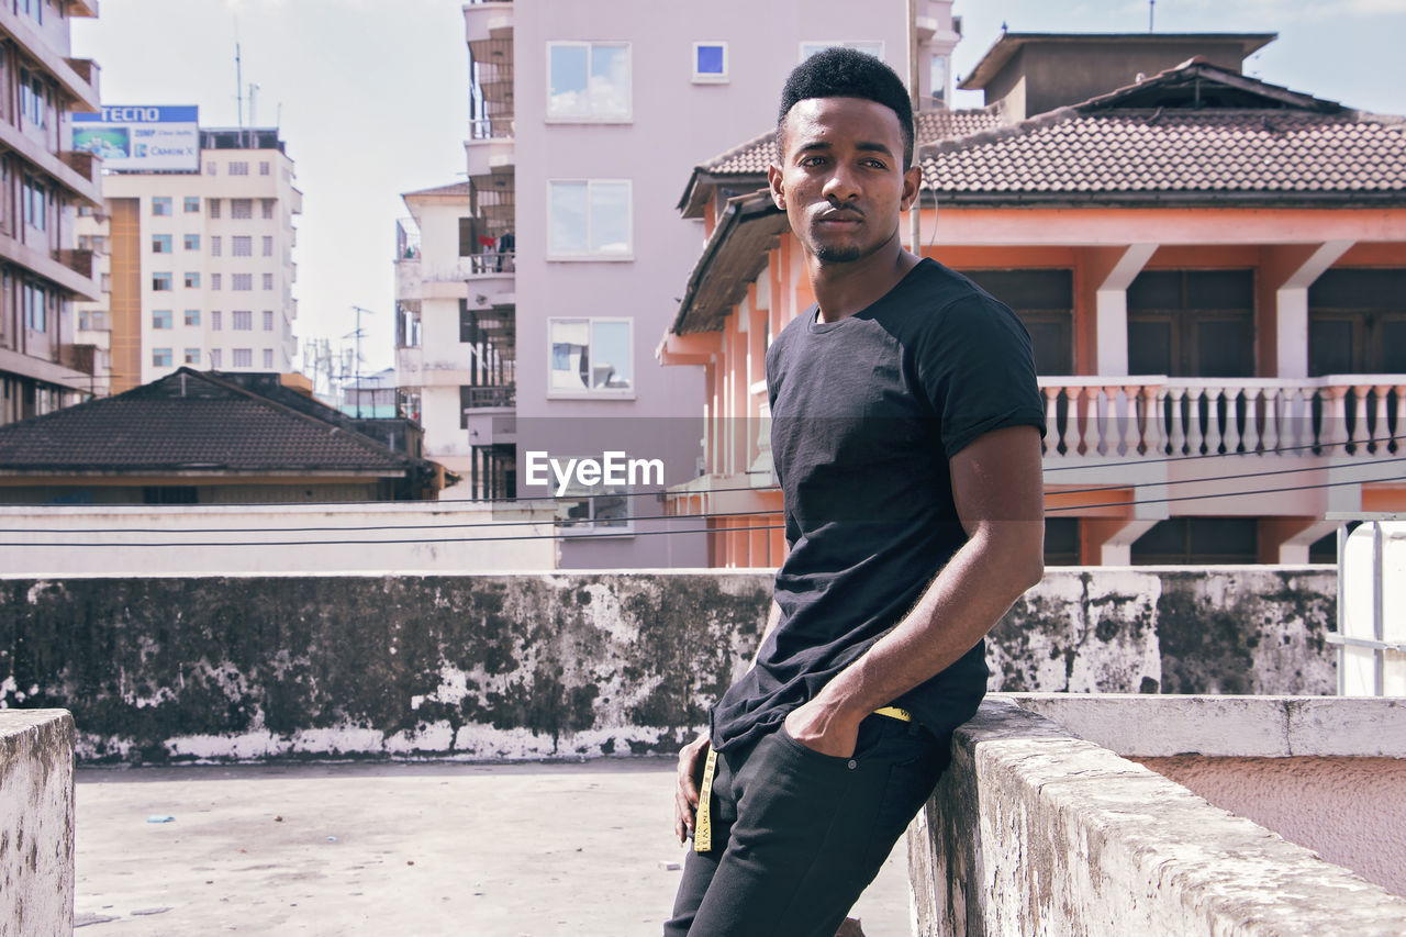
[[[1331,560],[1329,514],[1406,508],[1406,124],[1243,76],[1272,38],[1007,34],[984,110],[920,118],[921,252],[1035,339],[1050,564]],[[762,362],[813,297],[773,152],[681,205],[711,236],[661,355],[707,454],[671,505],[733,514],[714,566],[785,550]]]

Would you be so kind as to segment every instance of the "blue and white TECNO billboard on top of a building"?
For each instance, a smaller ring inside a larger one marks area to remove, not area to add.
[[[104,169],[200,172],[200,108],[111,106],[75,113],[72,148]]]

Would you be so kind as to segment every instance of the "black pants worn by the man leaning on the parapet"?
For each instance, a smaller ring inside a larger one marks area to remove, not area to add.
[[[869,716],[853,758],[780,727],[721,753],[711,853],[689,853],[666,937],[832,937],[927,802],[950,734]]]

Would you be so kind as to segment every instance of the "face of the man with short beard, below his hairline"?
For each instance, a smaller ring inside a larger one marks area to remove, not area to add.
[[[852,263],[897,239],[921,170],[904,172],[891,108],[858,97],[797,101],[779,144],[782,162],[766,173],[772,197],[820,263]]]

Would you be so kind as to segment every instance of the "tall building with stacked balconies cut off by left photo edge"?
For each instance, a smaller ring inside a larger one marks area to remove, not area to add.
[[[94,352],[73,304],[97,297],[75,211],[101,201],[98,163],[66,145],[66,115],[98,108],[97,65],[70,58],[93,0],[0,3],[0,425],[83,400]]]

